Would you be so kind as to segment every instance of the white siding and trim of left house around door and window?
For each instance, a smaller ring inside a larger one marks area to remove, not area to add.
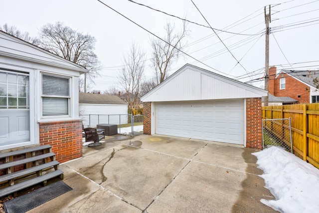
[[[49,53],[23,40],[0,32],[0,70],[11,73],[24,73],[29,76],[29,109],[24,131],[29,140],[15,144],[0,145],[0,150],[23,147],[40,143],[39,123],[51,121],[79,120],[78,112],[78,78],[80,72],[87,72],[83,67]],[[42,117],[41,109],[41,74],[53,74],[70,79],[70,114],[67,116]],[[15,109],[9,109],[14,111]],[[19,109],[16,109],[19,111]],[[0,110],[0,117],[5,117],[5,110]],[[23,120],[24,122],[24,120]],[[11,130],[12,131],[12,130]],[[8,135],[0,133],[0,135]],[[1,138],[0,136],[0,138]]]

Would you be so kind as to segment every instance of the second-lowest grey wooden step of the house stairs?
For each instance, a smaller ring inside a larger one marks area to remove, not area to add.
[[[0,176],[0,183],[5,182],[5,181],[10,181],[10,180],[13,180],[13,179],[16,179],[19,177],[23,177],[25,175],[28,175],[28,174],[31,174],[34,172],[38,172],[38,171],[42,171],[44,169],[51,168],[51,167],[54,167],[54,169],[57,170],[58,165],[59,165],[59,162],[51,161],[49,163],[41,164],[41,165],[36,166],[36,167],[31,167],[31,168],[20,170],[20,171],[14,172],[14,173],[2,175],[2,176]],[[41,174],[39,174],[39,175],[41,175]],[[14,182],[12,181],[12,183],[14,183]],[[9,183],[9,186],[11,186],[10,183]]]

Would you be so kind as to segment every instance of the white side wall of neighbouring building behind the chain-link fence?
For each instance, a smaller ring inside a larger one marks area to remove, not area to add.
[[[128,105],[124,104],[79,104],[79,111],[84,127],[128,123]]]

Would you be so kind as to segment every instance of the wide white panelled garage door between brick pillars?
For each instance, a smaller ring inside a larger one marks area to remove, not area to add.
[[[244,144],[244,100],[157,102],[155,132]]]

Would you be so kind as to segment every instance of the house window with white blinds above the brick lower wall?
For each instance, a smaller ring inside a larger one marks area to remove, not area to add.
[[[69,115],[70,78],[42,74],[42,116]]]

